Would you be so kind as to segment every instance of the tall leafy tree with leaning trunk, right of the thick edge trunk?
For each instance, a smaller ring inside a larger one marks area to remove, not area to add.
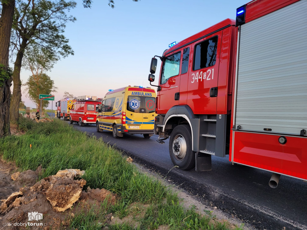
[[[10,121],[17,122],[21,100],[20,70],[25,49],[30,44],[41,46],[50,53],[66,57],[73,55],[68,39],[63,35],[67,22],[76,18],[66,12],[76,7],[74,1],[64,0],[17,0],[11,37],[16,60],[13,71],[13,94],[10,105]]]

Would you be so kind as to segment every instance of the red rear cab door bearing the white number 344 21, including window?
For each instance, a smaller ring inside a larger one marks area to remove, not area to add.
[[[222,31],[192,44],[187,104],[195,114],[216,114]]]

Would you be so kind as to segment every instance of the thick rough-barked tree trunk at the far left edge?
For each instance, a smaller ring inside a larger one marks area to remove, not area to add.
[[[7,70],[9,66],[9,47],[15,9],[15,0],[2,1],[0,17],[0,63]],[[0,137],[10,135],[10,86],[12,79],[3,82],[0,88]]]

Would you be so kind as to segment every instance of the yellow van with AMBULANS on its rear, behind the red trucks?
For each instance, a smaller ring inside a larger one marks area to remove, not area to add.
[[[123,133],[154,135],[156,92],[149,87],[127,86],[109,90],[97,110],[96,131],[112,131],[113,137]]]

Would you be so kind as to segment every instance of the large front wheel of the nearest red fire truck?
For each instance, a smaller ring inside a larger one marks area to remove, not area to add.
[[[169,155],[173,164],[182,170],[195,167],[192,133],[188,125],[178,125],[174,128],[169,140]]]

